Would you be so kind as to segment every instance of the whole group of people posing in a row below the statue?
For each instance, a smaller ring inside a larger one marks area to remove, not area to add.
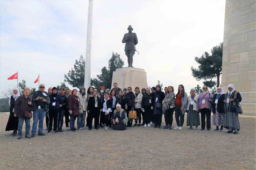
[[[227,133],[237,134],[240,130],[240,123],[236,107],[242,98],[233,85],[228,85],[228,92],[225,94],[222,87],[217,88],[216,94],[208,92],[206,86],[203,92],[196,94],[196,89],[190,89],[190,95],[185,92],[184,86],[179,85],[178,92],[174,93],[173,86],[164,88],[161,86],[142,88],[118,88],[114,83],[113,89],[106,89],[104,86],[94,89],[90,86],[87,89],[82,87],[79,92],[76,89],[60,88],[60,93],[56,87],[49,87],[45,91],[45,85],[40,84],[39,90],[32,97],[29,96],[30,89],[25,88],[23,95],[17,88],[13,89],[13,95],[9,99],[10,116],[7,122],[6,131],[13,130],[12,135],[17,134],[18,139],[22,136],[22,126],[25,120],[25,138],[35,137],[38,125],[38,135],[44,136],[43,122],[46,116],[47,134],[63,132],[63,118],[65,116],[66,128],[72,132],[88,127],[92,129],[94,119],[94,129],[104,127],[115,130],[125,130],[126,127],[151,127],[161,129],[162,115],[164,115],[165,126],[163,129],[172,129],[173,113],[177,127],[181,130],[184,123],[184,115],[187,112],[188,129],[198,128],[200,125],[199,113],[201,113],[201,130],[211,129],[211,113],[213,112],[212,124],[216,126],[214,131],[223,131],[223,127],[228,129]],[[151,90],[151,91],[150,91]],[[33,125],[30,131],[30,118]],[[136,111],[137,118],[128,119],[129,112]],[[87,118],[86,118],[86,113]],[[31,116],[30,116],[31,115]],[[205,123],[206,117],[206,123]],[[86,118],[86,124],[85,124]],[[75,121],[77,119],[77,129]],[[142,121],[142,122],[141,122]],[[220,126],[220,129],[219,129]]]

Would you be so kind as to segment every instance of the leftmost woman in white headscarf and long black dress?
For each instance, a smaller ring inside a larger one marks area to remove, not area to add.
[[[13,130],[12,135],[17,135],[19,118],[13,116],[14,106],[16,100],[20,96],[20,92],[18,88],[13,88],[12,96],[9,98],[9,105],[10,105],[10,115],[9,119],[5,128],[5,131]]]

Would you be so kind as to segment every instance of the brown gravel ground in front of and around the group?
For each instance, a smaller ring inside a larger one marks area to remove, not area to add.
[[[4,131],[8,117],[9,114],[0,114],[0,169],[256,168],[255,118],[240,117],[241,130],[237,135],[227,134],[226,129],[215,132],[213,126],[211,131],[201,131],[200,126],[188,130],[184,126],[185,115],[182,130],[132,127],[124,131],[86,128],[70,132],[65,129],[59,134],[17,140],[11,131]],[[33,119],[31,128],[32,123]],[[175,125],[174,118],[172,128]]]

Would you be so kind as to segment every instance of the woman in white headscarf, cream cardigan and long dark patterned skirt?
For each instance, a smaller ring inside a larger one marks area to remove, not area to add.
[[[188,96],[188,103],[187,103],[187,126],[190,126],[188,129],[193,129],[193,126],[197,127],[200,125],[200,116],[199,112],[196,108],[196,102],[198,99],[198,95],[196,94],[196,89],[191,88],[190,94]]]

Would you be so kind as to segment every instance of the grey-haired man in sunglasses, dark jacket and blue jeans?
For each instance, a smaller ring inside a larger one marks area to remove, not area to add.
[[[38,136],[44,136],[43,128],[44,128],[44,116],[47,111],[48,104],[50,104],[49,94],[44,91],[45,85],[40,84],[39,90],[36,91],[32,96],[33,106],[33,126],[31,131],[31,137],[35,137],[37,123],[38,125]]]

